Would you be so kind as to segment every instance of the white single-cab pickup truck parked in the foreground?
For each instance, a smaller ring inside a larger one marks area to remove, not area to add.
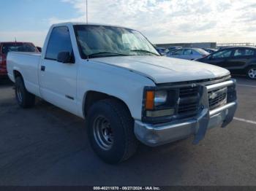
[[[138,140],[154,147],[195,136],[197,144],[236,112],[236,81],[217,66],[159,55],[140,32],[60,23],[42,55],[10,52],[18,104],[35,96],[86,119],[94,151],[107,163],[131,157]]]

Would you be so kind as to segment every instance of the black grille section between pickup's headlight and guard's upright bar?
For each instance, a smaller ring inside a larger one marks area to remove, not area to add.
[[[198,87],[181,87],[179,90],[178,114],[189,117],[197,114],[199,98]]]

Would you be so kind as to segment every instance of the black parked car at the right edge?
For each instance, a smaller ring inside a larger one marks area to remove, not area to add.
[[[249,79],[256,79],[256,47],[229,47],[197,61],[223,67],[232,74],[246,74]]]

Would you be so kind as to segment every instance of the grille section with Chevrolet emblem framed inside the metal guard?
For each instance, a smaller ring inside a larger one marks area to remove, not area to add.
[[[210,110],[216,109],[227,102],[227,87],[208,92]]]

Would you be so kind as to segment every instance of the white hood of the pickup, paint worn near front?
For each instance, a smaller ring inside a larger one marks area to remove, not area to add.
[[[212,79],[230,74],[226,69],[208,63],[186,61],[164,56],[116,56],[91,61],[128,69],[152,79],[156,84]]]

